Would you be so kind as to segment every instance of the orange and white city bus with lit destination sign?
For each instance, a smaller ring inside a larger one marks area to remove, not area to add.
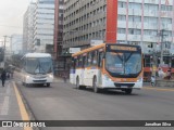
[[[72,54],[70,82],[77,89],[117,89],[130,94],[142,88],[142,52],[139,46],[101,43]]]

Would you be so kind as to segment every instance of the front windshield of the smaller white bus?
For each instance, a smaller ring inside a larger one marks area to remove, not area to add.
[[[29,74],[52,73],[52,61],[50,57],[29,57],[24,69]]]

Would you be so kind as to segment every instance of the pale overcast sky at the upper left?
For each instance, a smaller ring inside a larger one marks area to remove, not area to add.
[[[3,36],[23,34],[23,15],[30,1],[35,0],[1,0],[0,41],[3,40]]]

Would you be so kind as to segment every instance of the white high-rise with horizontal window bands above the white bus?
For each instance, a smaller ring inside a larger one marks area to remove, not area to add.
[[[34,49],[53,52],[54,0],[37,0],[34,16]]]

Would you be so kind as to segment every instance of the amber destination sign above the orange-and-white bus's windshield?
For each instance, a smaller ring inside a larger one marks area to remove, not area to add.
[[[110,46],[111,50],[137,51],[136,47]]]

